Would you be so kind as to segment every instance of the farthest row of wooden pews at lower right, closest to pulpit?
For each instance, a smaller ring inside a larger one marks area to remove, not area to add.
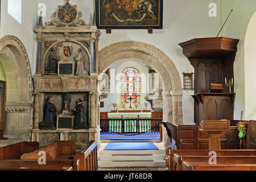
[[[256,150],[214,150],[217,156],[256,156]],[[174,154],[180,156],[209,156],[209,150],[169,150],[170,171],[174,171]]]

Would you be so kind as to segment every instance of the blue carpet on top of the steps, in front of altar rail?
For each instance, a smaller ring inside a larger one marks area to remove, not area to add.
[[[108,143],[104,150],[158,150],[154,143]]]

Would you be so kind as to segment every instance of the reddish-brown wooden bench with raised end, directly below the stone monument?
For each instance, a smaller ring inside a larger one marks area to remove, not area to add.
[[[41,148],[34,152],[23,154],[20,159],[22,160],[38,160],[40,155],[38,152],[46,152],[46,159],[73,159],[76,154],[76,145],[74,141],[60,141],[51,144],[50,146]]]

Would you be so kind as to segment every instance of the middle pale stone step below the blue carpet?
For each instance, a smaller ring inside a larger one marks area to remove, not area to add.
[[[165,155],[100,155],[99,161],[160,161],[165,158]]]

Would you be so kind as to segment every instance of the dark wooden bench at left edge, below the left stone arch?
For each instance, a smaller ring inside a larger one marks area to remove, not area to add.
[[[0,147],[0,160],[20,159],[24,153],[39,149],[38,142],[19,142],[9,146]]]

